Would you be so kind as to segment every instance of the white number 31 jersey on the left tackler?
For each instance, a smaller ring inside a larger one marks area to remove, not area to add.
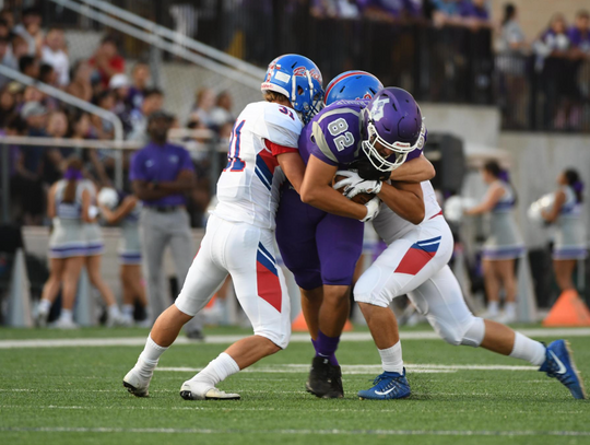
[[[285,175],[264,140],[297,149],[302,129],[292,108],[270,102],[247,105],[234,126],[213,213],[226,221],[274,230]]]

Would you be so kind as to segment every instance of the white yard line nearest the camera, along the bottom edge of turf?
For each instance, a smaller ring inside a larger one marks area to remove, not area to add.
[[[130,433],[130,434],[269,434],[269,435],[391,435],[391,436],[590,436],[590,431],[488,431],[488,430],[213,430],[176,428],[0,428],[5,432]]]

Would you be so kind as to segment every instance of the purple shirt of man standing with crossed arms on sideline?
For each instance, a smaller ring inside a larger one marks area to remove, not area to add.
[[[168,183],[176,180],[178,174],[182,171],[194,171],[188,151],[172,143],[157,145],[150,142],[133,155],[130,179]],[[143,202],[148,207],[184,206],[185,203],[182,194],[169,195],[161,199]]]

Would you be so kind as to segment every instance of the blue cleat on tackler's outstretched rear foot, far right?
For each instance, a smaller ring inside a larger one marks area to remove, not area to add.
[[[583,380],[576,370],[574,354],[566,340],[555,340],[547,347],[545,362],[539,371],[563,383],[576,399],[586,399]]]

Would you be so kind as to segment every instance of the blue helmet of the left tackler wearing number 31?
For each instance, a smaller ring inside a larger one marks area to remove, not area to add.
[[[280,56],[270,62],[260,89],[285,95],[304,124],[323,105],[323,80],[319,68],[307,57],[296,54]]]

